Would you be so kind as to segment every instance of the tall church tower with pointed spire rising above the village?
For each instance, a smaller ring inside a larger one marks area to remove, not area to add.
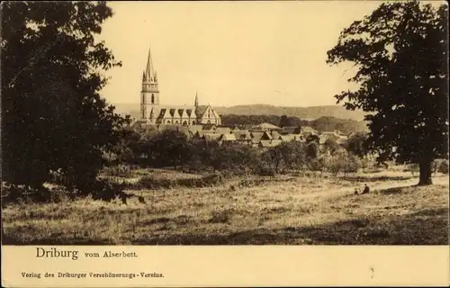
[[[142,74],[142,90],[140,91],[140,118],[155,121],[157,106],[159,106],[157,71],[153,67],[151,52],[148,49],[147,68]]]

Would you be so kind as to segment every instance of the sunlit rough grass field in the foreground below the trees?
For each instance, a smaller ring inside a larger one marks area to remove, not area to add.
[[[408,173],[277,176],[216,187],[130,191],[128,204],[91,199],[8,205],[5,244],[448,244],[448,176],[415,186]],[[371,193],[355,195],[369,184]]]

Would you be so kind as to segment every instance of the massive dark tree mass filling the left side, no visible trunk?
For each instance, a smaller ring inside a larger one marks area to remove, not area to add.
[[[87,193],[127,122],[99,94],[102,72],[121,65],[94,40],[112,9],[38,1],[1,9],[3,180],[40,188],[58,170],[70,190]]]

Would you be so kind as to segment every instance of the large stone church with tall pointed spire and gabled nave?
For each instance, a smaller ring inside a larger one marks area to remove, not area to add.
[[[159,101],[157,70],[148,49],[147,67],[142,74],[140,92],[140,123],[178,125],[220,125],[220,115],[210,105],[199,105],[195,94],[193,105],[166,105]]]

